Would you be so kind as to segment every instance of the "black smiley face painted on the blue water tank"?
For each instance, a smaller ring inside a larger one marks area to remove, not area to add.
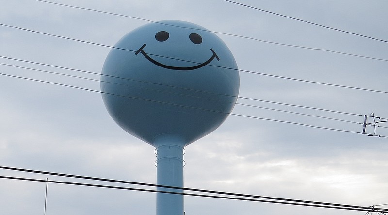
[[[160,31],[160,32],[158,32],[158,33],[155,34],[155,39],[156,39],[157,41],[159,41],[159,42],[164,42],[164,41],[166,41],[169,37],[170,37],[170,34],[169,34],[168,32],[166,32],[166,31]],[[199,34],[197,34],[197,33],[190,33],[189,36],[188,36],[188,38],[189,38],[190,41],[191,41],[192,43],[194,43],[194,44],[199,45],[199,44],[202,43],[202,37],[201,37]],[[208,65],[214,58],[216,58],[217,61],[220,60],[220,58],[217,56],[217,54],[215,53],[215,51],[214,51],[212,48],[210,48],[210,51],[211,51],[213,54],[211,55],[211,57],[210,57],[207,61],[205,61],[205,62],[203,62],[203,63],[201,63],[201,64],[199,64],[199,65],[196,65],[196,66],[189,66],[189,67],[168,66],[168,65],[162,64],[162,63],[160,63],[160,62],[158,62],[158,61],[152,59],[152,58],[146,53],[146,51],[144,51],[144,48],[145,48],[145,47],[146,47],[146,43],[145,43],[142,47],[140,47],[139,50],[137,50],[137,51],[135,52],[135,55],[139,54],[139,52],[140,52],[140,53],[142,53],[143,56],[144,56],[147,60],[149,60],[151,63],[153,63],[153,64],[155,64],[155,65],[157,65],[157,66],[161,66],[161,67],[166,68],[166,69],[184,70],[184,71],[187,71],[187,70],[194,70],[194,69],[198,69],[198,68],[201,68],[201,67],[203,67],[203,66]]]

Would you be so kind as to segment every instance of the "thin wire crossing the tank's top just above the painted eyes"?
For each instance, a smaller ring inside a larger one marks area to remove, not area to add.
[[[332,52],[332,53],[337,53],[337,54],[350,55],[350,56],[354,56],[354,57],[368,58],[368,59],[380,60],[380,61],[388,61],[388,59],[368,57],[368,56],[363,56],[363,55],[358,55],[358,54],[345,53],[345,52],[341,52],[341,51],[326,50],[326,49],[320,49],[320,48],[311,48],[311,47],[304,47],[304,46],[291,45],[291,44],[285,44],[285,43],[271,42],[271,41],[266,41],[266,40],[260,40],[260,39],[254,38],[254,37],[237,35],[237,34],[233,34],[233,33],[223,33],[223,32],[209,31],[209,30],[196,29],[196,28],[190,28],[190,27],[183,27],[183,26],[172,25],[172,24],[165,24],[165,23],[162,23],[162,22],[153,21],[153,20],[146,19],[146,18],[133,17],[133,16],[123,15],[123,14],[117,14],[117,13],[112,13],[112,12],[107,12],[107,11],[102,11],[102,10],[96,10],[96,9],[90,9],[90,8],[85,8],[85,7],[78,7],[78,6],[62,4],[62,3],[56,3],[56,2],[51,2],[51,1],[45,1],[45,0],[36,0],[36,1],[50,3],[50,4],[54,4],[54,5],[65,6],[65,7],[70,7],[70,8],[88,10],[88,11],[93,11],[93,12],[98,12],[98,13],[104,13],[104,14],[109,14],[109,15],[115,15],[115,16],[120,16],[120,17],[133,18],[133,19],[138,19],[138,20],[142,20],[142,21],[158,23],[158,24],[162,24],[162,25],[174,26],[174,27],[178,27],[178,28],[189,28],[189,29],[195,29],[195,30],[199,30],[199,31],[207,31],[207,32],[212,32],[212,33],[218,33],[218,34],[223,34],[223,35],[228,35],[228,36],[234,36],[234,37],[239,37],[239,38],[244,38],[244,39],[255,40],[255,41],[264,42],[264,43],[275,44],[275,45],[289,46],[289,47],[308,49],[308,50],[327,51],[327,52]]]

